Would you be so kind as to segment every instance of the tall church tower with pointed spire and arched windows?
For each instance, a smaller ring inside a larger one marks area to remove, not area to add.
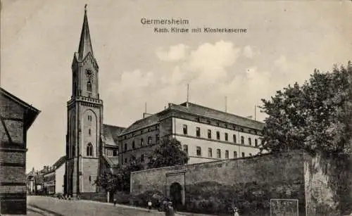
[[[86,5],[87,6],[87,5]],[[99,176],[103,101],[99,99],[99,66],[94,58],[90,39],[87,9],[78,52],[72,63],[72,96],[67,103],[65,193],[96,192]]]

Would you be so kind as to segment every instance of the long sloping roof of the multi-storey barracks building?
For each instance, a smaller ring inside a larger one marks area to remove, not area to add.
[[[188,103],[188,106],[187,106],[187,103]],[[241,117],[239,115],[234,115],[232,113],[225,113],[220,110],[215,110],[213,108],[208,108],[205,106],[198,105],[196,103],[185,102],[185,103],[181,103],[180,105],[170,103],[169,107],[166,110],[150,115],[149,117],[142,118],[141,120],[137,120],[132,125],[130,125],[130,127],[127,127],[121,134],[128,134],[137,129],[155,125],[158,123],[163,113],[168,112],[170,110],[175,110],[176,112],[189,113],[192,115],[198,115],[203,117],[210,117],[215,120],[229,122],[235,125],[240,125],[243,127],[249,127],[253,129],[261,130],[263,129],[263,126],[264,126],[263,122],[251,120],[249,118]]]

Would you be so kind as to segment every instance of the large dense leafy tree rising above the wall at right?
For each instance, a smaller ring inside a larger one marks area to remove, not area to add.
[[[352,120],[352,66],[332,72],[315,70],[303,85],[289,85],[261,110],[268,114],[263,129],[263,149],[334,155],[349,152]]]

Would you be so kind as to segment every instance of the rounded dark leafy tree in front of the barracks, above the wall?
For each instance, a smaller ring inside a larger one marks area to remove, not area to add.
[[[168,167],[174,165],[184,165],[189,157],[182,151],[180,141],[177,139],[163,139],[161,145],[153,151],[149,157],[149,168]]]

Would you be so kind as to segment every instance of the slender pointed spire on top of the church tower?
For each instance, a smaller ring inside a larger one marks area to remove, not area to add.
[[[92,42],[90,39],[89,27],[88,27],[87,4],[85,4],[80,46],[78,47],[78,58],[82,60],[85,56],[87,56],[89,52],[91,52],[93,55]]]

